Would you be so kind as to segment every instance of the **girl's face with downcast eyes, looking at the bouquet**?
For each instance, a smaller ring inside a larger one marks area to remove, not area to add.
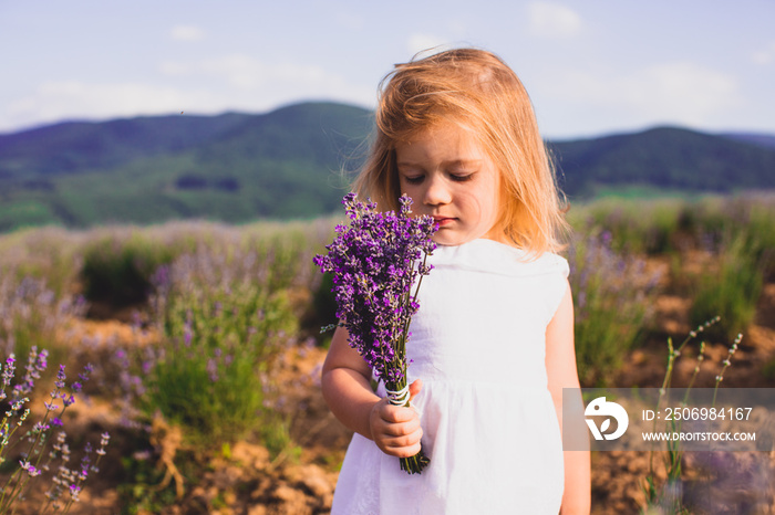
[[[478,238],[505,241],[494,230],[498,170],[468,130],[442,124],[397,145],[395,155],[401,192],[412,198],[415,214],[436,220],[436,243],[459,245]]]

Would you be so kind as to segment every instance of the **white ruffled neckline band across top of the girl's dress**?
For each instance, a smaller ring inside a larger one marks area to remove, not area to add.
[[[569,273],[568,261],[561,255],[551,252],[536,255],[524,249],[485,239],[456,246],[438,246],[428,261],[436,267],[510,276],[560,274],[567,277]]]

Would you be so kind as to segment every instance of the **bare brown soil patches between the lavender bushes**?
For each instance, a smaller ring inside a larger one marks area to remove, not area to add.
[[[664,335],[684,335],[688,324],[686,299],[663,295],[659,298],[657,336],[642,348],[631,353],[614,385],[617,387],[659,387],[664,377],[666,345]],[[78,332],[91,334],[95,340],[135,338],[130,327],[118,320],[83,320]],[[135,340],[135,339],[132,339]],[[727,347],[711,344],[707,360],[720,362]],[[235,444],[230,452],[207,459],[198,469],[204,471],[194,481],[177,470],[180,453],[186,452],[179,433],[157,421],[149,443],[155,466],[164,472],[158,485],[172,485],[179,501],[163,511],[165,514],[324,514],[329,513],[338,467],[350,439],[345,430],[328,411],[319,389],[319,370],[324,350],[300,345],[290,349],[282,360],[280,381],[293,407],[291,433],[297,449],[270,459],[269,452],[255,442]],[[725,374],[725,388],[775,387],[773,375],[763,374],[765,364],[775,359],[775,283],[767,284],[760,302],[758,317],[750,328]],[[676,367],[675,385],[685,380],[694,362],[688,359]],[[701,374],[698,386],[712,386],[715,371]],[[99,477],[81,496],[71,513],[122,513],[118,483],[123,472],[121,456],[128,456],[133,439],[118,429],[117,414],[106,403],[92,402],[74,410],[68,424],[75,424],[90,434],[107,428],[116,437],[108,449]],[[73,431],[73,425],[70,425]],[[76,429],[78,430],[78,429]],[[775,513],[775,453],[707,456],[686,455],[684,470],[707,470],[707,460],[727,460],[712,481],[691,481],[684,485],[684,497],[701,500],[707,512],[699,513]],[[659,460],[657,461],[659,463]],[[659,469],[659,467],[658,467]],[[595,514],[636,514],[641,512],[644,494],[643,477],[649,472],[649,455],[644,452],[600,452],[592,456],[592,494]],[[698,472],[699,475],[701,472]],[[741,486],[740,484],[744,485]],[[709,486],[710,485],[710,486]],[[32,497],[39,495],[33,493]],[[701,506],[702,502],[698,502]],[[21,512],[20,512],[21,513]]]

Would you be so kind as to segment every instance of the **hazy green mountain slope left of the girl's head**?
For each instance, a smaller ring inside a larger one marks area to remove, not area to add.
[[[370,128],[366,109],[316,103],[0,136],[0,230],[330,213]]]

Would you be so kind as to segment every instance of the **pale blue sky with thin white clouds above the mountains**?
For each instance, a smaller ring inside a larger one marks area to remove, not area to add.
[[[62,119],[366,107],[436,45],[499,54],[549,138],[775,134],[772,0],[0,0],[0,133]]]

